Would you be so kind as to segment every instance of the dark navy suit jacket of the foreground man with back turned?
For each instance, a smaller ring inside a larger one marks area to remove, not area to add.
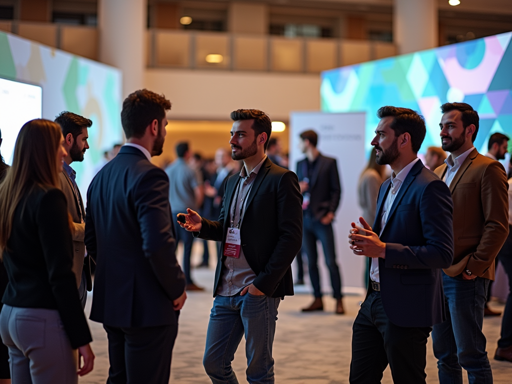
[[[112,327],[177,324],[185,289],[176,260],[169,179],[123,146],[87,191],[87,251],[96,261],[91,320]]]

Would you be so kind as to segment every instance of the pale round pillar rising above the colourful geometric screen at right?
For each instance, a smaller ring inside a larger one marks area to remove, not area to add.
[[[437,0],[394,0],[393,40],[399,53],[435,48],[439,44]]]

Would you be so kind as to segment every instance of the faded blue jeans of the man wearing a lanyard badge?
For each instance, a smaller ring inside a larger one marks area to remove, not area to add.
[[[245,335],[247,381],[273,384],[275,321],[280,298],[266,295],[217,295],[211,308],[203,365],[213,384],[238,384],[231,368],[242,336]]]

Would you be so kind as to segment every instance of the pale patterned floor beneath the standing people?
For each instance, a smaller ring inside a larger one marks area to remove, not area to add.
[[[207,384],[211,381],[204,373],[202,357],[206,337],[206,327],[211,308],[212,269],[194,270],[198,285],[204,292],[190,292],[180,316],[180,328],[173,352],[170,382],[178,384]],[[348,383],[350,366],[350,345],[352,323],[359,309],[361,296],[346,296],[347,314],[335,315],[334,299],[325,298],[325,312],[303,314],[300,309],[311,301],[307,294],[287,297],[279,307],[279,320],[275,334],[274,359],[275,382],[278,384],[342,384]],[[89,297],[86,312],[89,311]],[[500,311],[503,306],[493,304]],[[495,384],[512,382],[512,363],[492,359],[499,338],[501,317],[485,318],[484,333],[487,337],[487,351],[493,368]],[[89,375],[80,378],[81,384],[103,384],[109,369],[106,334],[101,324],[90,322],[96,354],[95,368]],[[245,380],[245,346],[242,341],[233,361],[234,371],[240,383]],[[429,338],[427,357],[427,382],[438,383],[436,359],[432,353]],[[383,383],[392,383],[389,368]],[[464,377],[467,383],[467,377]]]

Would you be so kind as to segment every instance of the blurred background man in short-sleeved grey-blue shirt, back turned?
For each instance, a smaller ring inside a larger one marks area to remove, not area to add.
[[[204,189],[203,181],[198,173],[188,165],[190,159],[190,150],[188,143],[180,142],[176,145],[176,155],[178,158],[170,164],[165,173],[169,177],[169,202],[173,209],[173,220],[179,212],[186,211],[188,207],[198,210],[203,204]],[[187,281],[187,291],[202,291],[192,281],[190,276],[190,255],[192,253],[192,243],[194,237],[185,229],[176,228],[176,243],[183,243],[183,272]]]

